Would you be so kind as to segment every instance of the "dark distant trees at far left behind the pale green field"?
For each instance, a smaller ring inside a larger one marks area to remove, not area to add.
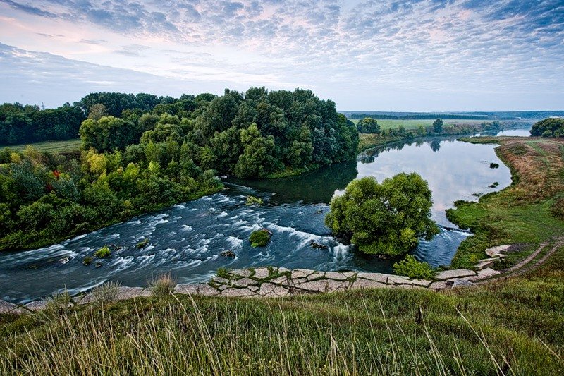
[[[77,138],[84,119],[84,113],[70,104],[56,109],[0,104],[0,145]]]

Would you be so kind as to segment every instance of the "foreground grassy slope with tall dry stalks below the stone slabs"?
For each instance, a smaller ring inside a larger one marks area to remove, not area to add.
[[[0,373],[557,375],[563,262],[559,250],[526,276],[444,293],[168,296],[0,315]]]

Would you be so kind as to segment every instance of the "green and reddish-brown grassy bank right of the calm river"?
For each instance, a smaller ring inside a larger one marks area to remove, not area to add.
[[[474,143],[495,143],[496,153],[512,172],[513,183],[479,202],[455,202],[448,219],[470,229],[474,236],[462,242],[452,267],[470,267],[486,257],[493,245],[522,244],[503,268],[522,258],[539,243],[564,234],[561,217],[564,198],[564,140],[550,138],[467,138]]]

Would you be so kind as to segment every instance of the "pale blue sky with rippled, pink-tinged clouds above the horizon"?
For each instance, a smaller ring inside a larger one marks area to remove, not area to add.
[[[564,109],[564,0],[0,0],[0,102],[313,90],[341,111]]]

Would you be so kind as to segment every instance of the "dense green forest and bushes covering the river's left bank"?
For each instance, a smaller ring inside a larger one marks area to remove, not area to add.
[[[252,87],[179,99],[92,93],[63,108],[84,119],[80,152],[0,151],[0,250],[46,245],[214,193],[218,174],[266,178],[355,159],[359,142],[335,103],[309,90]],[[44,111],[30,110],[30,119]],[[76,131],[62,124],[44,132]],[[35,137],[30,129],[14,134]]]

